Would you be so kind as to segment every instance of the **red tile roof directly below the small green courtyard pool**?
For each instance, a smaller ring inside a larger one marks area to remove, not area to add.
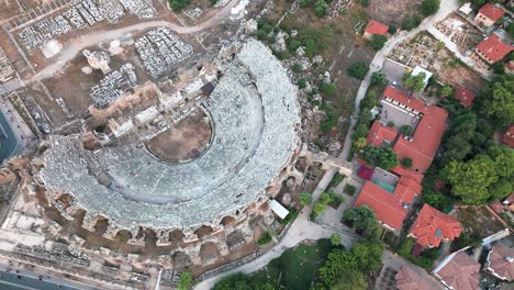
[[[410,205],[417,194],[420,192],[401,183],[398,183],[391,193],[371,181],[366,181],[355,201],[355,207],[368,205],[377,214],[377,220],[399,230],[409,211],[404,205]]]

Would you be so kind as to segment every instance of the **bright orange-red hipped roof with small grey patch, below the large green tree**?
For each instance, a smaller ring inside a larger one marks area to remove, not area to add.
[[[462,226],[454,217],[424,204],[410,235],[423,247],[438,247],[443,239],[454,241],[462,233]]]

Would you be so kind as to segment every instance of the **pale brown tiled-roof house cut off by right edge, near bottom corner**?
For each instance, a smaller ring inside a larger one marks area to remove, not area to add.
[[[491,248],[485,261],[485,270],[505,281],[514,279],[514,250],[498,244]]]

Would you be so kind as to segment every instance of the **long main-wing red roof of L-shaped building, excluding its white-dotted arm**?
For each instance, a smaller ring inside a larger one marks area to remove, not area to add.
[[[431,105],[422,110],[425,114],[416,126],[412,142],[400,137],[394,144],[393,150],[398,159],[412,159],[412,169],[425,172],[431,167],[432,160],[440,144],[440,138],[446,130],[448,113],[438,107]]]

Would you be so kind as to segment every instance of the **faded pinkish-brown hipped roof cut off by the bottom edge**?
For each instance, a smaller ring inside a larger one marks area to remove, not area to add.
[[[463,252],[457,253],[437,275],[455,290],[478,289],[480,264]]]

